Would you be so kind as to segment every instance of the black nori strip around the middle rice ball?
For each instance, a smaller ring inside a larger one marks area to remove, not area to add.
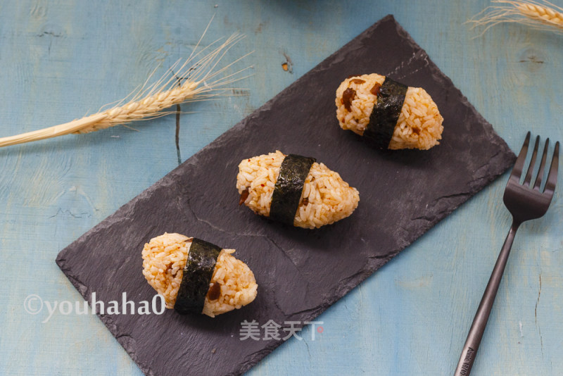
[[[284,158],[272,194],[270,218],[293,226],[305,179],[315,161],[315,158],[295,154],[289,154]]]

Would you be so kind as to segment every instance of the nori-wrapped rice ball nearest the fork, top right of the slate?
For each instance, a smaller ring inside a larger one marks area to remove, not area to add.
[[[336,118],[343,130],[379,149],[428,150],[442,138],[443,118],[421,87],[406,87],[372,73],[348,77],[336,90]]]

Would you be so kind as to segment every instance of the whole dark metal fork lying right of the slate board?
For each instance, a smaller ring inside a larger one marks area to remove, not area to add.
[[[514,168],[512,168],[512,173],[510,173],[510,177],[508,178],[508,182],[506,184],[505,195],[502,199],[505,202],[505,206],[508,211],[512,214],[512,226],[510,227],[510,231],[506,237],[505,244],[502,245],[500,255],[495,263],[495,268],[491,273],[491,278],[488,281],[483,298],[481,298],[481,303],[479,303],[479,308],[477,308],[477,313],[473,319],[469,334],[467,334],[467,339],[463,346],[460,361],[457,363],[454,376],[468,376],[471,372],[477,350],[479,349],[479,344],[481,343],[481,338],[483,338],[483,332],[485,332],[488,316],[491,313],[491,308],[493,308],[495,296],[498,291],[498,285],[502,279],[502,273],[505,271],[508,255],[510,254],[510,248],[512,247],[512,242],[514,241],[514,235],[516,234],[518,227],[524,221],[540,218],[546,211],[548,211],[551,199],[553,198],[553,192],[555,192],[555,183],[557,182],[557,165],[559,163],[559,142],[557,142],[555,144],[555,150],[551,160],[548,180],[545,183],[543,192],[541,192],[540,186],[545,168],[545,159],[548,154],[549,141],[550,139],[545,140],[545,148],[543,149],[540,168],[538,169],[538,175],[533,185],[531,184],[531,179],[533,175],[533,166],[536,163],[536,157],[538,156],[538,144],[540,143],[539,136],[536,137],[536,145],[533,147],[530,165],[528,172],[526,173],[526,177],[524,177],[523,184],[520,184],[520,178],[522,170],[524,170],[524,161],[526,160],[526,155],[528,153],[530,132],[526,135],[524,145],[520,150],[516,163],[514,164]]]

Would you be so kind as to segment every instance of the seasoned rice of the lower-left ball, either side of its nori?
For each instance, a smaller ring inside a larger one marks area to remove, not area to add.
[[[165,232],[151,239],[143,248],[143,275],[148,284],[164,296],[166,308],[174,308],[176,303],[192,239]],[[220,284],[221,293],[219,299],[214,301],[206,296],[202,312],[212,318],[246,306],[257,294],[258,284],[252,270],[232,253],[234,249],[223,249],[217,257],[210,287],[215,283]]]

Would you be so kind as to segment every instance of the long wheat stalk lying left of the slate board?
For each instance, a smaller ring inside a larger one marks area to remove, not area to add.
[[[206,31],[207,28],[205,28]],[[205,32],[203,32],[203,35],[205,35]],[[248,77],[241,77],[241,73],[251,67],[243,68],[231,74],[227,74],[227,70],[252,52],[237,58],[222,68],[217,68],[227,51],[243,39],[243,35],[234,34],[222,43],[220,43],[222,39],[217,39],[195,53],[203,35],[191,56],[184,63],[180,64],[180,61],[177,61],[160,80],[148,85],[147,82],[155,72],[153,71],[139,89],[119,101],[112,108],[106,110],[101,108],[98,113],[72,120],[69,123],[0,138],[0,147],[48,139],[63,134],[94,132],[136,120],[158,118],[174,112],[163,112],[166,108],[175,104],[210,99],[229,89],[226,85]],[[182,80],[184,82],[179,84]]]

